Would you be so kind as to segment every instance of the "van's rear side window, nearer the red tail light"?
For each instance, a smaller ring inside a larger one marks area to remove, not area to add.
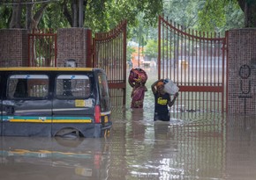
[[[91,94],[91,83],[88,76],[61,75],[56,78],[56,97],[85,98]]]

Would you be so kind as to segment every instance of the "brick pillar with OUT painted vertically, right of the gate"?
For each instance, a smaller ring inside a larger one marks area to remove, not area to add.
[[[256,29],[229,32],[228,112],[256,114]]]

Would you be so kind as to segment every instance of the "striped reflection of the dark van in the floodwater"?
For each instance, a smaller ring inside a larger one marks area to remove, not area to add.
[[[1,179],[106,179],[102,145],[102,139],[2,137]]]

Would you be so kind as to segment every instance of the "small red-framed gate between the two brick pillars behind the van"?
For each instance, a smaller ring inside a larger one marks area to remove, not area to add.
[[[51,29],[29,33],[28,60],[32,67],[56,67],[56,33]]]

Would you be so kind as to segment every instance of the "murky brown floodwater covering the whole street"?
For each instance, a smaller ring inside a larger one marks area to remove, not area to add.
[[[151,93],[143,109],[113,111],[108,139],[1,137],[0,179],[256,178],[254,117],[184,112],[154,122]]]

